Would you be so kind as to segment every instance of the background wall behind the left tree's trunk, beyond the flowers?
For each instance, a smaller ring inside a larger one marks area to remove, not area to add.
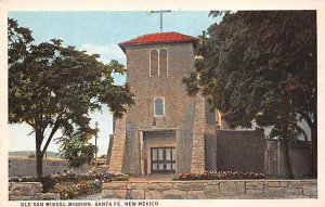
[[[74,168],[77,173],[83,173],[93,166],[84,165],[80,168]],[[64,170],[70,170],[66,159],[44,158],[43,174],[56,174]],[[9,177],[36,176],[36,159],[27,157],[9,157]]]

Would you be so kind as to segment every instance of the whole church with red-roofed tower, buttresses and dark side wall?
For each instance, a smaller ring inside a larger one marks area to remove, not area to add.
[[[210,112],[204,96],[186,94],[181,79],[194,70],[196,41],[179,33],[157,33],[119,44],[127,55],[127,82],[135,104],[114,120],[107,153],[109,171],[265,172],[265,163],[269,166],[273,157],[264,156],[263,130],[230,130],[218,112]]]

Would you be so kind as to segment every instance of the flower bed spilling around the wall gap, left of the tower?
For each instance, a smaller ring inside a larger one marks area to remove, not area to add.
[[[61,199],[72,199],[81,195],[89,195],[102,191],[102,184],[112,181],[128,181],[128,174],[115,174],[100,172],[92,169],[84,174],[76,174],[67,171],[56,176],[43,176],[41,178],[24,177],[10,179],[11,182],[41,182],[43,193],[58,193]]]

